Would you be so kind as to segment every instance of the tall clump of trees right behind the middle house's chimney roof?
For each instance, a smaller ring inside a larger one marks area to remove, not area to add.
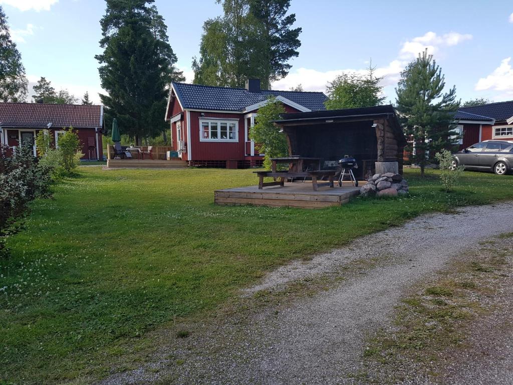
[[[263,89],[287,75],[299,55],[301,28],[292,29],[290,0],[218,0],[224,14],[203,26],[200,59],[194,58],[194,83],[243,87],[258,78]]]

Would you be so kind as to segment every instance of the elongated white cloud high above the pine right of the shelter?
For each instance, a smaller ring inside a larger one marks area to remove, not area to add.
[[[435,32],[426,32],[423,36],[414,37],[407,41],[401,48],[400,56],[403,59],[416,57],[419,53],[427,49],[429,54],[437,52],[441,47],[455,46],[465,40],[471,40],[469,33],[449,32],[443,35],[437,35]]]

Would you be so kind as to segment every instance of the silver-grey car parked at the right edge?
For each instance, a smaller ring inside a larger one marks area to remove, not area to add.
[[[485,140],[452,155],[453,167],[461,165],[465,169],[494,171],[497,175],[513,170],[513,141]]]

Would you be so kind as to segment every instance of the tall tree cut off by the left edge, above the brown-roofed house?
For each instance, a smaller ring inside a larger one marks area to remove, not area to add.
[[[7,16],[0,6],[0,101],[25,102],[28,81],[22,55],[11,40]]]

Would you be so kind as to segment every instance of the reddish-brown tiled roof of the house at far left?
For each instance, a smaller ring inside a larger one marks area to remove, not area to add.
[[[2,127],[102,127],[103,106],[0,103]]]

